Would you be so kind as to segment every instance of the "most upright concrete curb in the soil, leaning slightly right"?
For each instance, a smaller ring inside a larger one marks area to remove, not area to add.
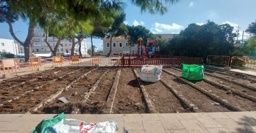
[[[115,80],[114,80],[114,82],[112,84],[112,87],[110,89],[110,92],[109,92],[109,95],[108,95],[108,98],[107,98],[106,108],[103,110],[104,113],[112,113],[120,73],[121,73],[121,68],[118,69]]]

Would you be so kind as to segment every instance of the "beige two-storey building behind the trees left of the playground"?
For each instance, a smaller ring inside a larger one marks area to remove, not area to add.
[[[110,50],[110,39],[103,38],[103,54],[108,54]],[[128,40],[123,36],[113,37],[112,38],[112,51],[111,55],[119,54],[123,55],[123,47],[128,46]],[[138,45],[130,47],[130,54],[136,54],[138,51]]]

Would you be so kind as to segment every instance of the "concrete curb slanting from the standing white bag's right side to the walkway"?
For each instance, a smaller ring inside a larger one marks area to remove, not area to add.
[[[182,102],[184,102],[190,110],[194,111],[194,112],[199,112],[198,108],[192,104],[192,102],[190,102],[187,98],[185,98],[181,93],[179,93],[176,89],[174,89],[173,87],[171,87],[168,83],[166,83],[165,81],[163,81],[162,79],[160,79],[160,82],[162,82],[162,84],[167,87],[168,89],[170,89],[170,91],[178,98],[180,99]]]

